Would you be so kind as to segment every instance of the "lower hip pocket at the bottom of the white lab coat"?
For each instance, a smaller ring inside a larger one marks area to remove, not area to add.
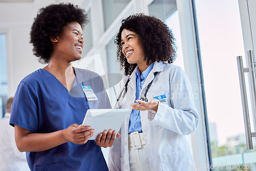
[[[194,159],[187,151],[160,154],[160,162],[163,171],[196,171],[189,167],[194,164]]]

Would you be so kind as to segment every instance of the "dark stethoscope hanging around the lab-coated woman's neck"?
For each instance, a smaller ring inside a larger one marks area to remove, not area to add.
[[[154,78],[153,78],[153,80],[155,79],[156,75],[157,75],[157,72],[154,73]],[[148,90],[150,89],[153,80],[147,85],[146,91],[145,91],[144,95],[140,98],[140,100],[145,101],[145,102],[148,102],[148,100],[147,100],[147,98],[146,98],[146,94],[147,94]],[[120,92],[118,98],[116,99],[116,104],[115,104],[115,106],[114,106],[114,109],[116,109],[116,105],[117,105],[118,101],[120,100],[121,96],[122,96],[122,101],[123,101],[123,98],[124,98],[124,96],[125,96],[125,94],[126,94],[126,92],[127,92],[127,86],[128,86],[129,81],[130,81],[130,78],[127,79],[127,81],[126,81],[126,83],[124,84],[124,87],[122,88],[122,90],[121,90],[121,92]],[[120,108],[120,105],[122,104],[122,101],[120,102],[118,108]]]

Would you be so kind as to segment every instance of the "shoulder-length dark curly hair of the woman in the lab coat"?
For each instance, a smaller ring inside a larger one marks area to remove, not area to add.
[[[123,29],[138,34],[139,42],[145,55],[144,61],[146,61],[146,65],[149,65],[150,61],[174,62],[177,47],[172,30],[154,16],[147,16],[143,13],[130,15],[122,20],[119,33],[114,40],[117,45],[117,59],[120,62],[120,69],[124,68],[124,75],[132,74],[137,64],[128,63],[122,53],[121,34]]]

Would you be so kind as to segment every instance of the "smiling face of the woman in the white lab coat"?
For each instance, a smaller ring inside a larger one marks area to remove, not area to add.
[[[122,52],[130,64],[137,63],[138,66],[146,65],[143,48],[139,42],[137,33],[123,29],[121,34]]]

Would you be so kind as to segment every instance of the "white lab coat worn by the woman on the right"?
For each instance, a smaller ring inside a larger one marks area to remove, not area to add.
[[[129,77],[127,93],[121,105],[121,108],[129,108],[130,112],[119,131],[121,138],[115,139],[109,151],[111,171],[130,170],[128,128],[132,111],[130,104],[135,101],[136,97],[136,70],[137,68]],[[166,99],[159,100],[158,110],[155,114],[152,110],[140,111],[151,171],[194,170],[190,167],[195,163],[185,137],[196,130],[199,121],[190,82],[180,67],[161,61],[155,62],[143,84],[140,98],[148,83],[153,80],[155,72],[158,74],[146,97],[150,101],[153,97],[166,95]],[[127,78],[124,78],[121,81],[120,88],[123,88],[126,80]]]

